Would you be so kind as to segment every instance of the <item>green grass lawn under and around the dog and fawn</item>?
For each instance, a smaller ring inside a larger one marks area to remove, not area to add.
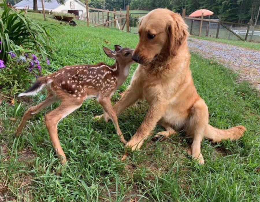
[[[59,32],[50,33],[50,72],[64,65],[113,64],[103,46],[134,48],[138,43],[137,35],[85,24],[62,26]],[[22,135],[15,137],[23,113],[46,97],[15,96],[14,106],[8,99],[0,105],[0,201],[259,201],[260,99],[256,91],[247,82],[238,84],[236,74],[215,62],[192,54],[190,64],[198,93],[208,104],[210,124],[247,128],[235,142],[203,140],[205,165],[198,165],[187,154],[191,141],[183,133],[164,142],[148,139],[140,151],[120,161],[124,145],[112,122],[92,120],[102,113],[95,100],[85,101],[59,123],[59,138],[68,159],[61,165],[44,124],[44,114],[58,103],[29,120]],[[129,85],[136,67],[132,65],[113,103]],[[140,126],[147,109],[140,101],[119,116],[126,140]],[[153,133],[161,130],[157,126]]]

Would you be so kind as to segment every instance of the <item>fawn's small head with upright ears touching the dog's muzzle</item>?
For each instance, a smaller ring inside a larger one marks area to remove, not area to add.
[[[115,45],[115,51],[107,47],[103,47],[103,50],[109,58],[116,59],[116,63],[119,65],[118,68],[125,68],[135,63],[135,61],[132,60],[133,49],[131,48],[123,48],[120,45]]]

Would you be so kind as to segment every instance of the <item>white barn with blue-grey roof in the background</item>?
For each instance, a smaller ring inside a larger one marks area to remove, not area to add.
[[[38,10],[42,10],[42,3],[38,0],[37,2]],[[33,0],[23,0],[14,5],[17,9],[24,9],[29,7],[29,9],[33,9],[34,3]],[[64,12],[64,13],[72,13],[78,16],[79,19],[86,18],[86,6],[81,3],[79,0],[66,0],[65,4],[59,4],[56,0],[52,0],[51,2],[44,2],[44,10],[50,12]]]

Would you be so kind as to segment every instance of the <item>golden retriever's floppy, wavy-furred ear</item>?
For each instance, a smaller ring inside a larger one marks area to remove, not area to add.
[[[172,20],[168,25],[169,52],[172,56],[176,56],[181,44],[187,40],[189,32],[181,15],[172,12],[171,16]]]

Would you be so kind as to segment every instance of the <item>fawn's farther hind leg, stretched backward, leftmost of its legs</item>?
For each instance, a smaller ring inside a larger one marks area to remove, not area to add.
[[[35,106],[31,106],[23,115],[23,119],[20,123],[20,125],[18,126],[18,128],[15,131],[15,135],[19,135],[25,125],[25,123],[34,115],[36,115],[37,113],[39,113],[42,109],[44,109],[45,107],[49,106],[50,104],[52,104],[53,102],[56,102],[57,98],[53,95],[47,97],[44,101],[42,101],[40,104],[37,104]]]

